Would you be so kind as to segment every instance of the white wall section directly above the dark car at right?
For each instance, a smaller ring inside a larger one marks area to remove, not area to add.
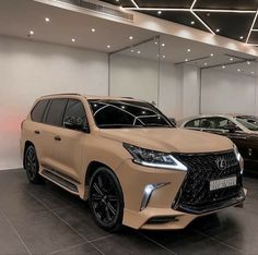
[[[256,78],[208,69],[201,72],[202,113],[256,114]]]

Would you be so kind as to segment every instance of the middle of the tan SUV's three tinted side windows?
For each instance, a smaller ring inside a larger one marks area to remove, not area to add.
[[[67,106],[68,99],[58,98],[52,99],[49,107],[49,111],[46,118],[46,123],[50,125],[61,126],[62,117]]]

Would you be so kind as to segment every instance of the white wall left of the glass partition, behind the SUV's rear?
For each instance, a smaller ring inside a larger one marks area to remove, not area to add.
[[[0,169],[21,167],[20,124],[52,93],[108,94],[107,54],[0,36]]]

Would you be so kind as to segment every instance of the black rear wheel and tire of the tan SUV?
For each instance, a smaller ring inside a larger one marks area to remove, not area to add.
[[[24,167],[26,170],[27,179],[33,184],[40,184],[44,182],[44,178],[38,173],[39,163],[37,159],[36,149],[33,145],[30,145],[25,151]]]

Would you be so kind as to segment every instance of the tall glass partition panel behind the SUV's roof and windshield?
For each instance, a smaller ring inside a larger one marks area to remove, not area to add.
[[[109,95],[159,105],[160,38],[131,45],[109,56]]]

